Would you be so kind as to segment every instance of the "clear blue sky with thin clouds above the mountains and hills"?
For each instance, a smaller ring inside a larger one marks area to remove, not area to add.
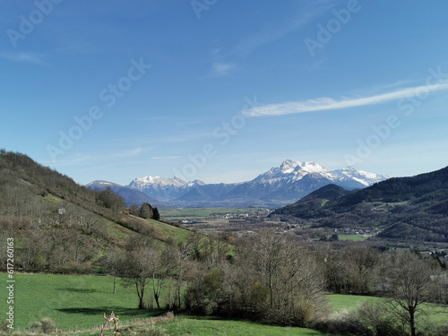
[[[0,6],[0,147],[81,184],[448,165],[443,0]]]

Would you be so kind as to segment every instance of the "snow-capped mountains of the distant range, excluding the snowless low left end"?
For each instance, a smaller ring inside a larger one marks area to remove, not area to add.
[[[306,177],[304,179],[304,177]],[[269,198],[290,200],[304,197],[316,188],[334,183],[347,189],[363,188],[387,177],[347,167],[334,171],[313,161],[285,159],[279,167],[239,184],[207,185],[203,181],[185,182],[179,177],[139,177],[128,186],[162,202],[252,202]],[[246,201],[245,201],[246,200]]]

